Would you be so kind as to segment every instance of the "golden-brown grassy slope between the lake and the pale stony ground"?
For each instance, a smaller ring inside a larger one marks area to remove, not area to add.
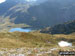
[[[53,47],[58,46],[61,40],[66,40],[75,44],[75,33],[70,35],[49,35],[42,33],[24,32],[1,32],[0,48],[19,48],[19,47]]]

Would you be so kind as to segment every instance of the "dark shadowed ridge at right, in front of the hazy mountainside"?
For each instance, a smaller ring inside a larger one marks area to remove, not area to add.
[[[51,28],[48,27],[41,30],[40,32],[50,34],[70,34],[75,32],[75,21],[58,24]]]

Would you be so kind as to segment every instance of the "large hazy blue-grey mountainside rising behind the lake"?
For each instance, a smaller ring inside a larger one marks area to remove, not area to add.
[[[48,27],[75,20],[75,0],[7,0],[0,4],[0,22]]]

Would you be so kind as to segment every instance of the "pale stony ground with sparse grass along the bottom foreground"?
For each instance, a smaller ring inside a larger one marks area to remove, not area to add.
[[[60,56],[59,51],[75,51],[75,47],[64,48],[0,48],[0,56]]]

